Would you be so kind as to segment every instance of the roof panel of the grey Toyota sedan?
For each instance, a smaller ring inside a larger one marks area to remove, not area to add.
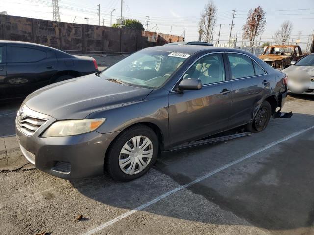
[[[157,47],[147,47],[143,50],[158,50],[158,51],[167,51],[167,52],[179,52],[185,54],[194,54],[199,51],[206,51],[206,52],[240,52],[242,54],[247,54],[249,56],[253,56],[253,54],[246,52],[244,50],[226,48],[226,47],[209,47],[209,46],[201,46],[201,45],[164,45],[164,46],[157,46]]]

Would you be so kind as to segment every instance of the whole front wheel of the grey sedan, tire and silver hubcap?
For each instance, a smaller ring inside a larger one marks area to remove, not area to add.
[[[112,178],[129,181],[144,175],[154,164],[157,154],[155,132],[145,125],[137,125],[113,141],[105,167]]]

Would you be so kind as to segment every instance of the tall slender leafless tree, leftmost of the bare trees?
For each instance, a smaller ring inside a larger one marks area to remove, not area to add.
[[[217,22],[217,7],[215,3],[210,0],[201,13],[201,18],[198,24],[198,32],[200,41],[209,42],[214,26]]]

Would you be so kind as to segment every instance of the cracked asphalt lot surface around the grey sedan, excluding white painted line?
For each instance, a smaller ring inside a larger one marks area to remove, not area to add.
[[[86,233],[314,125],[314,97],[288,97],[284,111],[293,111],[293,117],[272,119],[262,133],[162,154],[148,174],[127,183],[107,176],[67,181],[37,169],[22,170],[29,164],[24,165],[15,137],[0,138],[0,162],[5,159],[0,166],[0,234]],[[311,129],[95,234],[314,235],[313,142]],[[80,214],[83,219],[74,222]]]

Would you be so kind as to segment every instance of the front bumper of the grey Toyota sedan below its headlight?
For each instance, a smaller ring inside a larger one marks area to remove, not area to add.
[[[40,134],[55,121],[41,126],[33,135],[27,136],[15,125],[16,137],[26,159],[39,170],[63,178],[83,178],[104,173],[105,153],[111,141],[120,132],[101,134],[97,131],[64,137],[40,137]],[[17,117],[18,118],[18,117]],[[16,118],[16,119],[17,119]]]

